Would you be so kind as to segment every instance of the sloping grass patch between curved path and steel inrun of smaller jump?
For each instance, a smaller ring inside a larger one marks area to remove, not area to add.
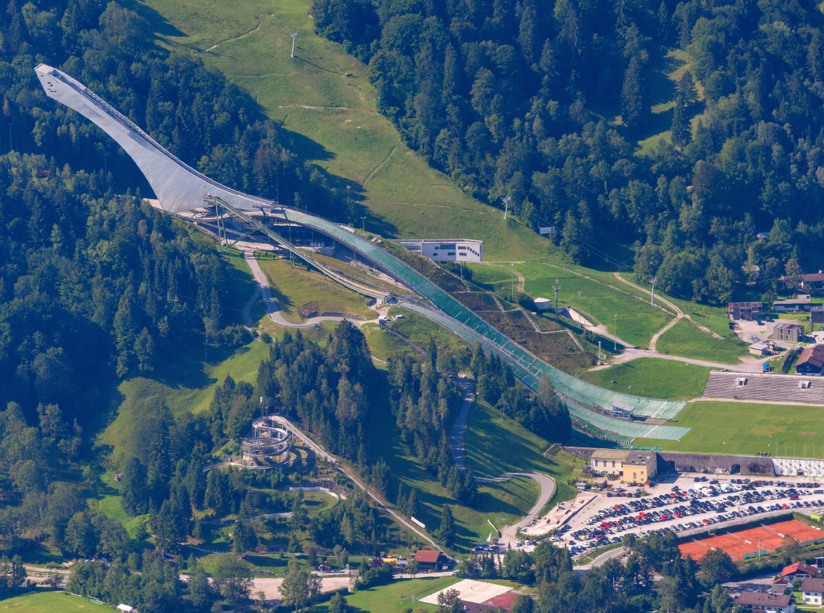
[[[363,319],[375,319],[377,313],[366,306],[365,299],[322,274],[307,270],[289,260],[260,260],[260,269],[269,279],[272,297],[286,321],[306,321],[301,310],[316,313],[345,313]]]

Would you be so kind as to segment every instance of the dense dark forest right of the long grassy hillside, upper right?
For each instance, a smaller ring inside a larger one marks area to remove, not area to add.
[[[406,144],[527,227],[557,227],[575,260],[603,261],[619,236],[639,278],[716,304],[737,283],[775,292],[793,258],[821,268],[812,2],[314,0],[312,16],[368,63]],[[669,82],[675,51],[690,59]]]

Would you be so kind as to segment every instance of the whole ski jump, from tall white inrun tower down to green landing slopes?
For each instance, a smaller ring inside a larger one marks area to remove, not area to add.
[[[326,219],[281,207],[271,200],[243,194],[221,185],[166,151],[132,121],[73,77],[45,64],[35,68],[35,73],[46,96],[76,110],[123,147],[146,176],[163,210],[169,213],[189,211],[202,207],[207,197],[211,201],[218,199],[240,212],[263,207],[279,208],[288,222],[311,228],[342,243],[404,283],[423,300],[401,299],[400,306],[442,325],[469,343],[480,341],[486,353],[497,353],[512,367],[516,377],[533,391],[540,389],[543,377],[549,377],[555,389],[572,400],[567,404],[574,418],[599,430],[617,433],[626,438],[677,440],[689,432],[690,428],[625,422],[612,419],[601,410],[589,409],[588,407],[602,407],[609,410],[612,403],[617,401],[634,406],[636,415],[667,419],[674,417],[686,403],[616,393],[559,371],[495,330],[428,278],[368,239]],[[292,250],[295,253],[298,251],[293,247]],[[322,264],[318,265],[322,268]],[[326,270],[324,272],[329,274]],[[344,279],[336,278],[335,274],[329,276],[346,284]]]

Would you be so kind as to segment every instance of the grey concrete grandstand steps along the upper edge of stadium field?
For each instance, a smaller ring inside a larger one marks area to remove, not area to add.
[[[737,385],[737,380],[741,377],[747,379],[746,385]],[[810,386],[804,390],[799,389],[800,381],[810,381]],[[712,371],[709,373],[704,395],[708,398],[805,402],[824,405],[824,377]]]

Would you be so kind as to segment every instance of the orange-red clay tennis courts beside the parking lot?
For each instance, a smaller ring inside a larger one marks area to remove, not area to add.
[[[792,536],[802,546],[810,545],[817,540],[824,540],[824,532],[804,522],[799,522],[797,519],[792,519],[789,522],[756,526],[729,534],[709,536],[705,539],[688,540],[678,545],[678,549],[681,550],[683,557],[691,555],[695,560],[711,549],[724,550],[732,559],[747,559],[758,555],[759,546],[761,546],[761,553],[771,554],[781,546],[784,536]]]

